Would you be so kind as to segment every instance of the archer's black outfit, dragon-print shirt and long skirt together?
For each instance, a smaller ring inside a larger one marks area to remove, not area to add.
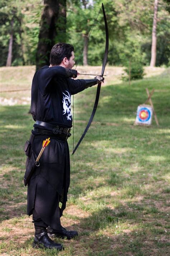
[[[74,80],[61,66],[42,67],[35,73],[32,82],[31,113],[34,121],[71,127],[71,95],[98,82],[97,79]],[[41,129],[44,131],[44,127],[35,123],[31,135],[32,150],[37,156],[43,140],[48,138],[48,132],[46,136],[37,132]],[[67,140],[49,137],[51,142],[40,159],[40,167],[36,168],[28,184],[27,214],[33,214],[36,226],[60,229],[60,217],[66,207],[70,185],[69,147]],[[59,201],[62,203],[60,212]]]

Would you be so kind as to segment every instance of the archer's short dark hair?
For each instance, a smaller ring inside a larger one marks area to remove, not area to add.
[[[71,44],[55,44],[51,49],[49,60],[50,64],[52,66],[59,65],[65,57],[69,60],[72,56],[72,51],[74,51],[74,47]]]

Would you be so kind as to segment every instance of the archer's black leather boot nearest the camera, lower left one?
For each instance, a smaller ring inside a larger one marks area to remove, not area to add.
[[[61,244],[55,243],[48,237],[46,228],[36,226],[35,230],[36,232],[35,232],[33,247],[55,248],[59,251],[63,250],[63,247]]]

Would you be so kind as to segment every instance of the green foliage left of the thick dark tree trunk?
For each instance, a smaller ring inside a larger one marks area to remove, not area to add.
[[[41,0],[3,0],[0,3],[0,66],[5,66],[8,55],[11,20],[14,20],[12,66],[35,62],[38,43]]]

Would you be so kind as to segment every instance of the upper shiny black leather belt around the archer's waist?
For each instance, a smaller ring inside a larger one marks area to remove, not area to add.
[[[42,127],[49,129],[49,130],[53,130],[53,134],[68,134],[71,131],[71,128],[66,128],[66,127],[62,127],[59,125],[52,125],[51,123],[45,123],[42,121],[36,121],[36,125],[41,125]]]

